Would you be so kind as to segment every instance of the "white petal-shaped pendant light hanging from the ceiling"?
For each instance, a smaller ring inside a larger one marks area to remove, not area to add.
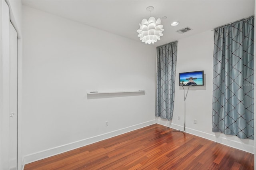
[[[155,43],[157,40],[160,40],[160,37],[163,36],[162,32],[164,31],[163,25],[161,25],[161,20],[158,18],[157,20],[151,16],[151,11],[154,10],[153,6],[149,6],[146,8],[147,11],[150,12],[150,18],[143,19],[140,24],[140,29],[137,30],[138,37],[144,43]]]

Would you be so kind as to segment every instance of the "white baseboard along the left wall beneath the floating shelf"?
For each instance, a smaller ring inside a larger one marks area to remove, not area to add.
[[[50,148],[50,149],[42,150],[40,152],[36,152],[36,153],[33,153],[33,154],[28,154],[28,155],[25,155],[24,158],[23,158],[23,165],[29,164],[31,162],[41,160],[41,159],[44,159],[44,158],[48,158],[50,156],[54,156],[54,155],[57,155],[57,154],[60,154],[60,153],[63,153],[63,152],[67,152],[67,151],[70,151],[70,150],[73,150],[73,149],[76,149],[76,148],[80,148],[80,147],[86,146],[88,144],[99,142],[101,140],[112,138],[114,136],[118,136],[120,134],[130,132],[132,130],[147,127],[147,126],[153,125],[155,123],[156,123],[156,120],[152,120],[152,121],[140,123],[140,124],[137,124],[137,125],[133,125],[133,126],[130,126],[130,127],[114,130],[112,132],[108,132],[108,133],[105,133],[105,134],[100,134],[98,136],[93,136],[93,137],[90,137],[90,138],[86,138],[86,139],[83,139],[83,140],[79,140],[79,141],[76,141],[76,142],[65,144],[65,145],[62,145],[62,146],[58,146],[58,147],[55,147],[55,148]]]

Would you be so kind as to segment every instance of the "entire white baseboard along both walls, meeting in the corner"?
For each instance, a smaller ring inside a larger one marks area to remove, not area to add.
[[[25,155],[23,157],[23,167],[22,167],[22,169],[24,168],[25,164],[29,164],[29,163],[37,161],[37,160],[41,160],[41,159],[44,159],[44,158],[48,158],[50,156],[54,156],[54,155],[57,155],[57,154],[60,154],[60,153],[63,153],[63,152],[67,152],[67,151],[70,151],[70,150],[73,150],[73,149],[76,149],[76,148],[80,148],[82,146],[86,146],[88,144],[92,144],[92,143],[95,143],[95,142],[98,142],[98,141],[101,141],[101,140],[112,138],[114,136],[118,136],[120,134],[130,132],[132,130],[136,130],[136,129],[143,128],[143,127],[146,127],[146,126],[149,126],[149,125],[153,125],[155,123],[158,123],[158,124],[166,126],[166,127],[174,128],[176,130],[181,130],[181,131],[183,131],[183,128],[184,128],[183,126],[180,126],[180,125],[176,125],[176,124],[173,124],[173,123],[171,124],[170,121],[152,120],[152,121],[140,123],[140,124],[137,124],[137,125],[122,128],[122,129],[119,129],[119,130],[114,130],[112,132],[108,132],[108,133],[101,134],[101,135],[98,135],[98,136],[93,136],[93,137],[90,137],[90,138],[86,138],[86,139],[83,139],[83,140],[79,140],[79,141],[76,141],[76,142],[72,142],[72,143],[69,143],[69,144],[58,146],[58,147],[55,147],[55,148],[50,148],[50,149],[42,150],[40,152],[36,152],[36,153],[33,153],[33,154]],[[192,129],[192,128],[186,128],[185,132],[187,132],[189,134],[193,134],[195,136],[206,138],[208,140],[212,140],[214,142],[218,142],[220,144],[224,144],[224,145],[227,145],[227,146],[239,149],[239,150],[243,150],[245,152],[249,152],[249,153],[254,154],[254,143],[253,142],[247,142],[246,143],[246,142],[243,142],[242,140],[241,140],[241,142],[239,142],[239,141],[235,141],[235,140],[232,140],[232,139],[228,139],[228,137],[230,135],[221,134],[221,135],[217,136],[217,135],[214,135],[214,134],[202,132],[202,131],[195,130],[195,129]],[[231,136],[230,138],[235,138],[235,137],[236,136]],[[249,141],[249,140],[246,140],[246,141]]]

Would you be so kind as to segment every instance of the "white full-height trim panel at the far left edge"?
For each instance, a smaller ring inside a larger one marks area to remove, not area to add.
[[[0,169],[9,169],[9,83],[10,83],[10,17],[1,1],[0,32]]]

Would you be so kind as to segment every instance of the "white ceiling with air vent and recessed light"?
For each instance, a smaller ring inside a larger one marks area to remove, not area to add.
[[[22,0],[22,4],[136,41],[140,41],[139,23],[149,18],[146,8],[154,6],[151,16],[161,18],[164,26],[164,36],[154,46],[254,15],[254,0]],[[180,24],[170,26],[173,21]],[[176,32],[187,26],[192,31]]]

